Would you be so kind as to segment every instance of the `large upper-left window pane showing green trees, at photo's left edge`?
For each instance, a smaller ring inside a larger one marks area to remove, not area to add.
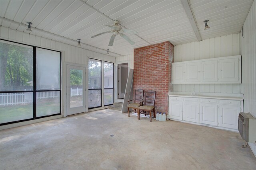
[[[0,91],[33,90],[33,47],[0,41]]]

